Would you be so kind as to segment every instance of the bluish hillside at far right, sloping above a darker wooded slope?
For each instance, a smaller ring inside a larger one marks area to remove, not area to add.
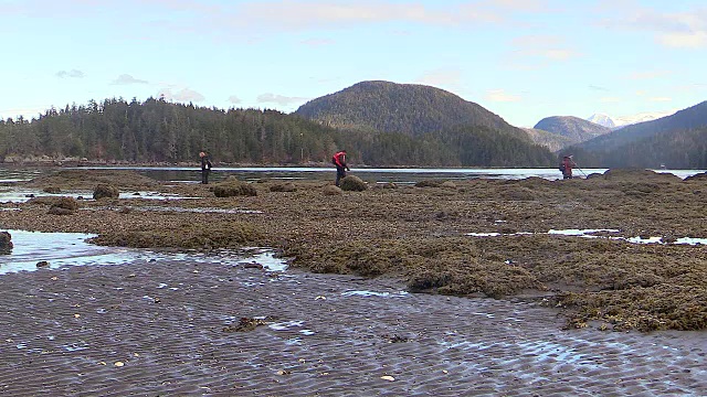
[[[640,122],[618,129],[576,147],[587,151],[610,151],[623,144],[655,136],[659,132],[680,131],[707,126],[707,101],[653,121]]]

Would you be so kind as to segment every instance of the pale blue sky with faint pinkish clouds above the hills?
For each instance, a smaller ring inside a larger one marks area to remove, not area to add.
[[[704,0],[0,0],[0,118],[149,97],[295,111],[423,84],[518,127],[707,100]]]

